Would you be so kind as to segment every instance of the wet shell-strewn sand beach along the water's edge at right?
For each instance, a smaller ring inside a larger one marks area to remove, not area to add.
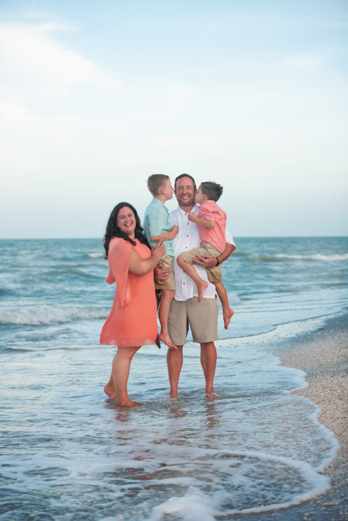
[[[306,334],[279,351],[282,364],[306,371],[308,387],[293,391],[320,407],[318,420],[340,443],[334,460],[322,474],[331,489],[300,505],[254,515],[235,516],[243,521],[343,521],[348,519],[348,315],[331,318],[324,328]]]

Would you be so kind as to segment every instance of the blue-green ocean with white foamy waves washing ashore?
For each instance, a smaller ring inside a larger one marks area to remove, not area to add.
[[[184,347],[169,399],[166,346],[133,358],[123,410],[98,343],[114,297],[101,239],[0,241],[0,519],[214,521],[286,508],[330,487],[338,449],[282,346],[348,306],[348,238],[240,238],[223,263],[215,390]]]

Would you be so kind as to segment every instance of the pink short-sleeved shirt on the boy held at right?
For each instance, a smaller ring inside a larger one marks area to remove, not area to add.
[[[200,232],[201,244],[208,243],[216,247],[219,252],[223,252],[226,247],[226,214],[216,204],[215,201],[204,201],[200,206],[200,213],[198,214],[200,219],[207,219],[208,221],[214,221],[214,228],[205,228],[204,226],[198,225],[198,231]]]

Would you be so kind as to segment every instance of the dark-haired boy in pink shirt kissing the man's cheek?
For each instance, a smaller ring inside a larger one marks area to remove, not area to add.
[[[223,250],[225,250],[226,246],[226,214],[216,204],[216,201],[220,199],[222,190],[220,184],[213,183],[212,181],[206,181],[200,184],[195,196],[195,202],[200,205],[200,213],[198,217],[196,217],[194,212],[190,212],[188,218],[198,225],[201,245],[193,250],[182,252],[177,258],[179,266],[197,284],[198,302],[201,302],[208,282],[201,279],[197,274],[192,266],[192,260],[196,255],[206,254],[213,255],[213,257],[217,258],[221,255]],[[227,291],[221,282],[222,273],[218,258],[217,265],[213,268],[206,268],[206,271],[209,281],[213,282],[219,295],[222,304],[223,321],[225,323],[225,329],[227,329],[233,315],[233,309],[230,308]]]

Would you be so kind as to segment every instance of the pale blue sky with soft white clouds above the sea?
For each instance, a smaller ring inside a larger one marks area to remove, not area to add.
[[[0,238],[103,237],[184,172],[234,237],[348,235],[345,0],[0,0],[0,71]]]

